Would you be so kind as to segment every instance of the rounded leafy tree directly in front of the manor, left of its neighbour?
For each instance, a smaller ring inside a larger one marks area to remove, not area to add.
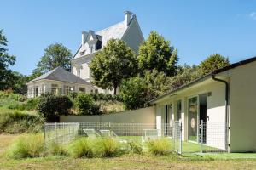
[[[125,42],[111,39],[90,63],[93,83],[101,88],[114,89],[114,94],[123,79],[137,74],[137,57]]]

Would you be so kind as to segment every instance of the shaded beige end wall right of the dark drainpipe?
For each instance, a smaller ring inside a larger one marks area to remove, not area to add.
[[[256,61],[230,72],[230,152],[256,151]]]

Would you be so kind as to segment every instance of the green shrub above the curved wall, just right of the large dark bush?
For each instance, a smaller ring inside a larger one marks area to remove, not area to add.
[[[74,100],[79,115],[99,115],[100,105],[96,105],[90,94],[79,94]]]

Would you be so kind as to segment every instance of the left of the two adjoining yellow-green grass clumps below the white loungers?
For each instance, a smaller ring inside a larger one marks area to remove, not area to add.
[[[93,156],[93,139],[80,138],[76,139],[68,147],[68,152],[75,158],[92,157]]]

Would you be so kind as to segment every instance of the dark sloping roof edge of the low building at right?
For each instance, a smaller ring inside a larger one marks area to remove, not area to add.
[[[190,86],[194,85],[195,83],[202,82],[202,81],[206,80],[207,78],[212,77],[213,75],[216,75],[216,74],[218,74],[220,72],[228,71],[230,69],[236,68],[237,66],[246,65],[246,64],[251,63],[253,61],[256,61],[256,56],[253,57],[253,58],[241,60],[239,62],[233,63],[233,64],[228,65],[228,66],[224,66],[224,67],[222,67],[220,69],[217,69],[215,71],[212,71],[212,72],[208,73],[207,75],[205,75],[203,77],[199,77],[199,78],[195,79],[194,81],[189,82],[188,84],[184,84],[183,86],[175,88],[175,89],[173,89],[172,91],[170,91],[170,92],[168,92],[166,94],[160,95],[158,98],[151,100],[150,103],[153,104],[157,100],[162,99],[162,98],[166,97],[167,95],[173,94],[173,93],[175,93],[175,92],[177,92],[179,90],[182,90],[183,88],[189,88]]]

